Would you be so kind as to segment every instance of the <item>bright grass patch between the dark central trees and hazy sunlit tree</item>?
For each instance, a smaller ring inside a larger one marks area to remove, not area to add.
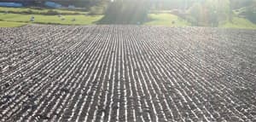
[[[191,24],[172,14],[149,14],[148,22],[145,25],[158,25],[158,26],[190,26]]]

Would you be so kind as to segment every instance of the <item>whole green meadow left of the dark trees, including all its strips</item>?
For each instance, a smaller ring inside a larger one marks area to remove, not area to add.
[[[47,15],[49,10],[59,15]],[[28,13],[28,14],[27,14]],[[13,27],[24,24],[57,24],[57,25],[93,25],[102,15],[87,15],[88,12],[65,9],[31,9],[31,8],[4,8],[0,7],[0,26]],[[30,21],[32,16],[35,20]],[[64,20],[63,20],[64,18]],[[73,20],[75,19],[75,20]],[[19,23],[18,23],[19,22]]]

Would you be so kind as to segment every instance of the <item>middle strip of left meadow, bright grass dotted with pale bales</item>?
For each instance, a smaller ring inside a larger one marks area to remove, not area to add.
[[[30,21],[34,16],[33,22]],[[61,20],[65,18],[65,20]],[[72,21],[75,19],[75,21]],[[102,15],[21,15],[21,14],[4,14],[0,13],[0,20],[15,21],[24,23],[40,23],[40,24],[60,24],[60,25],[91,25],[97,20],[101,20]]]

